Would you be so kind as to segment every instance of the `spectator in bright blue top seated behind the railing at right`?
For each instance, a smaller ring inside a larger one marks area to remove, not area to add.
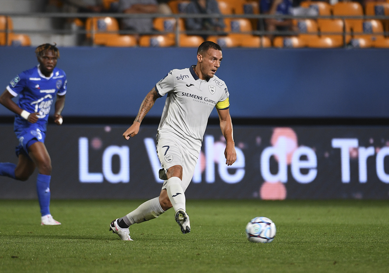
[[[292,3],[292,0],[259,0],[259,9],[264,14],[290,15]],[[265,28],[267,31],[298,31],[291,19],[265,19]],[[272,39],[273,35],[269,35],[269,38]]]

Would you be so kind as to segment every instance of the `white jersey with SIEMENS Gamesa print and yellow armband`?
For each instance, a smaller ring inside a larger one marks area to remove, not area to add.
[[[212,109],[228,109],[228,89],[224,81],[213,76],[200,79],[195,67],[173,69],[155,86],[158,96],[167,95],[159,136],[170,136],[198,157]]]

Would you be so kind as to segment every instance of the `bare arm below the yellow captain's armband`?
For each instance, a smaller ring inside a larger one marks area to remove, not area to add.
[[[226,149],[224,150],[224,156],[226,157],[227,166],[232,165],[237,160],[237,152],[235,150],[235,142],[232,133],[232,121],[230,116],[230,110],[217,109],[220,119],[220,129],[226,139]]]

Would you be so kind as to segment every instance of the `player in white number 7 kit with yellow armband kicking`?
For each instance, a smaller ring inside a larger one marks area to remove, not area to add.
[[[173,69],[144,98],[138,115],[124,133],[127,140],[135,137],[140,123],[157,98],[167,94],[157,134],[157,153],[164,180],[159,197],[141,204],[131,213],[110,224],[113,233],[121,240],[132,240],[128,227],[142,223],[164,213],[171,207],[182,233],[191,230],[186,213],[185,190],[192,180],[201,143],[212,109],[216,107],[220,128],[226,139],[226,164],[237,159],[230,116],[228,89],[215,73],[223,58],[219,45],[205,41],[197,50],[197,64],[186,69]]]

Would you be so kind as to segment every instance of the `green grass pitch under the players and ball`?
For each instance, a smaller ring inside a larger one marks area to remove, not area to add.
[[[389,202],[369,200],[188,200],[191,233],[169,210],[130,227],[109,223],[139,200],[52,200],[61,226],[40,226],[36,200],[0,200],[0,272],[388,272]],[[273,242],[245,226],[266,216]]]

